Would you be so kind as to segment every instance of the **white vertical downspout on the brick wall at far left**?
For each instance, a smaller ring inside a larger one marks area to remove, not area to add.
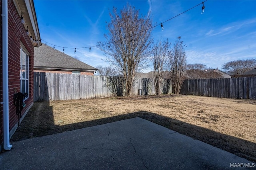
[[[9,87],[8,87],[8,0],[2,0],[2,54],[3,54],[3,129],[4,150],[11,150],[9,134]]]

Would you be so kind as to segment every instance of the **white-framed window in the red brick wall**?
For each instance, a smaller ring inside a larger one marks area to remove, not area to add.
[[[20,48],[20,92],[28,94],[28,72],[29,72],[29,56],[26,51]],[[29,94],[28,94],[29,95]],[[26,96],[25,100],[28,98]]]

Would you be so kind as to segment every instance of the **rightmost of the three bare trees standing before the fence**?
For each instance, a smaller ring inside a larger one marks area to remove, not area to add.
[[[168,53],[169,62],[168,67],[170,69],[170,77],[172,80],[172,86],[174,88],[174,94],[179,94],[182,83],[185,80],[186,71],[186,53],[184,50],[183,41],[181,37],[177,37],[172,51]]]

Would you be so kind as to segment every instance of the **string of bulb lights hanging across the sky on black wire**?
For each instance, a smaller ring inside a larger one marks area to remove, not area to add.
[[[205,0],[205,1],[203,1],[202,3],[200,3],[200,4],[203,4],[203,6],[202,6],[202,13],[201,13],[201,14],[204,13],[204,8],[205,8],[205,7],[204,7],[204,2],[206,2],[206,1],[208,1],[208,0]],[[170,18],[170,19],[168,19],[168,20],[166,20],[166,21],[164,21],[164,22],[162,22],[162,23],[160,23],[160,24],[158,24],[158,25],[160,25],[160,26],[162,27],[162,31],[163,31],[163,30],[164,30],[163,23],[168,22],[168,21],[170,21],[170,20],[172,20],[172,19],[174,19],[174,18],[176,18],[176,17],[178,17],[178,16],[184,14],[185,12],[188,12],[188,11],[192,10],[193,8],[196,8],[196,7],[199,6],[200,4],[197,4],[196,6],[193,6],[192,8],[189,8],[188,10],[186,10],[186,11],[184,11],[184,12],[182,12],[182,13],[180,13],[180,14],[178,14],[178,15],[176,15],[176,16],[174,16],[174,17],[172,17],[172,18]],[[152,28],[154,28],[154,27],[157,27],[158,25],[154,25],[154,26],[152,26],[152,27],[150,27],[150,28],[148,28],[148,29],[142,30],[142,31],[140,31],[140,32],[138,32],[138,33],[136,33],[136,34],[134,34],[134,35],[131,35],[130,37],[133,37],[133,36],[135,36],[135,35],[137,35],[137,34],[139,34],[139,33],[142,33],[142,32],[144,32],[144,31],[147,31],[147,30],[149,30],[149,29],[152,29]],[[125,38],[123,38],[123,39],[126,39],[126,38],[127,38],[127,37],[125,37]],[[108,44],[108,48],[110,48],[110,43],[115,43],[115,42],[121,41],[121,40],[123,40],[123,39],[119,39],[119,40],[116,40],[116,41],[108,42],[108,43],[105,43],[105,44],[103,44],[103,45],[107,45],[107,44]],[[41,39],[41,41],[44,41],[44,40]],[[46,42],[46,41],[44,41],[44,42]],[[48,43],[48,44],[53,45],[53,48],[54,48],[54,49],[55,49],[55,46],[56,46],[56,47],[61,47],[61,46],[54,45],[54,44],[51,44],[51,43]],[[130,40],[130,45],[132,45],[132,39]],[[89,48],[89,51],[91,51],[92,47],[98,47],[98,46],[100,46],[100,45],[94,45],[94,46],[91,46],[91,47],[79,47],[79,48],[65,47],[65,48],[67,48],[67,49],[75,49],[75,52],[76,52],[76,49],[85,49],[85,48]],[[63,53],[64,53],[64,47],[61,47],[61,48],[63,48]]]

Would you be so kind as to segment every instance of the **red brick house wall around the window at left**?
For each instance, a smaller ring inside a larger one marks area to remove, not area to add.
[[[2,3],[2,2],[1,2]],[[2,27],[1,27],[2,29]],[[2,30],[1,30],[2,32]],[[2,34],[1,34],[2,36]],[[2,37],[0,37],[2,40]],[[25,101],[26,107],[22,110],[22,115],[28,111],[28,108],[33,104],[34,98],[34,46],[30,41],[30,37],[26,35],[26,28],[20,21],[20,16],[16,11],[13,1],[8,1],[8,77],[9,77],[9,129],[14,132],[18,123],[18,116],[16,115],[16,107],[14,106],[14,94],[20,92],[20,42],[25,46],[26,50],[30,53],[29,56],[29,98]],[[2,41],[1,41],[2,49]],[[2,51],[2,50],[1,50]],[[1,53],[1,68],[2,68],[2,53]],[[1,70],[1,90],[2,90],[2,70]],[[1,92],[2,102],[2,92]],[[3,108],[1,105],[1,144],[3,141],[2,134],[2,116]],[[10,135],[12,135],[10,133]]]

